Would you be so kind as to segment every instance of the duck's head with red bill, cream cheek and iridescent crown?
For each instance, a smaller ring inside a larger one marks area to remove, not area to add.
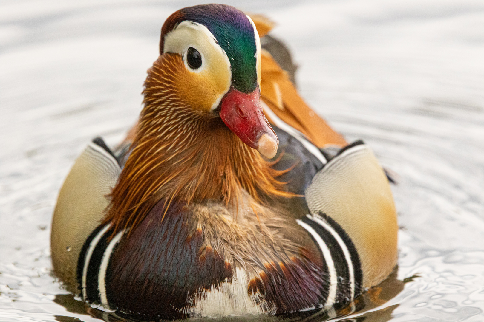
[[[171,82],[184,104],[220,117],[263,156],[276,154],[278,139],[260,104],[260,40],[249,16],[219,4],[183,8],[166,19],[160,54],[176,56]]]

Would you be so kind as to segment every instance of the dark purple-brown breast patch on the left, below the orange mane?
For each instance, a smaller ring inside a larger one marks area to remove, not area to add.
[[[192,230],[190,214],[171,205],[162,221],[160,201],[124,238],[109,262],[106,294],[111,305],[149,316],[186,318],[189,294],[230,281],[232,267],[203,246],[201,229]]]

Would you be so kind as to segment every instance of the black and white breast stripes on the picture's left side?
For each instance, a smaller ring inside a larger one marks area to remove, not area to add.
[[[124,230],[109,240],[112,233],[111,224],[96,228],[86,239],[77,262],[82,299],[106,309],[110,309],[106,297],[106,269]]]

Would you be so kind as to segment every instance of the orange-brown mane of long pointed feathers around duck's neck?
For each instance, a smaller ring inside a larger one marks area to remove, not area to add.
[[[139,224],[160,200],[168,209],[173,201],[237,205],[242,189],[259,203],[294,196],[275,179],[286,171],[180,95],[182,69],[180,56],[164,54],[148,70],[138,131],[104,219],[114,233]]]

